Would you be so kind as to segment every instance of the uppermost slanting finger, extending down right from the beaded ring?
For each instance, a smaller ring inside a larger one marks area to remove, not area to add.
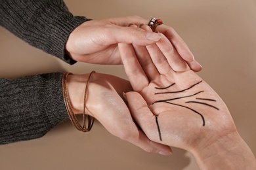
[[[188,48],[188,45],[181,39],[179,34],[173,29],[173,27],[169,27],[168,25],[159,25],[156,27],[156,31],[163,33],[169,41],[175,46],[177,52],[181,55],[181,57],[186,61],[194,61],[194,55]]]

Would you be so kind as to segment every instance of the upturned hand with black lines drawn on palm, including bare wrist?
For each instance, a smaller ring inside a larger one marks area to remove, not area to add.
[[[136,91],[126,93],[129,109],[150,140],[192,152],[202,169],[255,169],[229,110],[200,76],[173,71],[143,46],[122,43],[119,50]]]

